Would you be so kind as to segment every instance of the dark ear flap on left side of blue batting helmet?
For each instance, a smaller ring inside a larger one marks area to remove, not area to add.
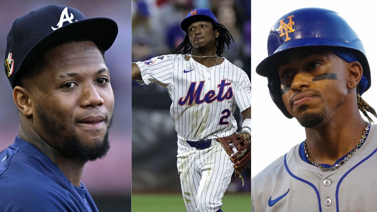
[[[285,115],[287,118],[293,118],[291,114],[287,111],[284,106],[282,99],[282,92],[280,89],[280,80],[277,77],[268,77],[268,90],[270,91],[270,96],[272,101],[276,104],[277,108]]]

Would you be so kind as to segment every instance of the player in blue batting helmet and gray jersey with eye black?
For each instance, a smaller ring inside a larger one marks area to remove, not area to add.
[[[252,211],[375,211],[377,135],[367,112],[376,112],[361,97],[371,86],[362,41],[336,12],[304,8],[277,20],[267,46],[256,72],[306,138],[252,179]]]

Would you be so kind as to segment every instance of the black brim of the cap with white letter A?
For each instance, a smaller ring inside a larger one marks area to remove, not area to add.
[[[38,41],[25,56],[19,70],[22,70],[46,51],[64,41],[89,39],[97,42],[106,51],[114,43],[116,35],[118,35],[118,25],[110,18],[88,18],[70,23],[52,31]]]

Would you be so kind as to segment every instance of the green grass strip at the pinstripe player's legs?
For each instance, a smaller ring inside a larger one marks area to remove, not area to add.
[[[132,212],[185,212],[181,194],[132,194]],[[250,194],[225,194],[222,198],[224,212],[250,212]]]

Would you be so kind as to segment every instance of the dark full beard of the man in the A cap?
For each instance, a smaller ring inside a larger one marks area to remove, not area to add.
[[[87,163],[102,159],[107,155],[110,149],[109,129],[112,125],[113,115],[111,115],[109,125],[103,140],[96,139],[91,144],[82,141],[75,130],[67,132],[67,129],[56,118],[48,116],[42,108],[37,108],[38,118],[42,121],[44,128],[48,130],[50,135],[56,137],[57,142],[63,142],[64,155],[69,156],[81,163]]]

